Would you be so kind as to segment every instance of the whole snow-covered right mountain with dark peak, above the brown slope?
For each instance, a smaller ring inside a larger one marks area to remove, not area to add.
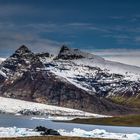
[[[107,61],[66,46],[53,61],[43,63],[46,70],[91,94],[139,96],[140,93],[140,67]]]

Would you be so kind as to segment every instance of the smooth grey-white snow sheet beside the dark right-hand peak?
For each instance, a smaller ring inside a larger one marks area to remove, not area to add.
[[[140,67],[131,66],[119,62],[108,61],[105,59],[94,58],[83,58],[71,60],[78,65],[85,65],[91,67],[99,67],[102,70],[107,70],[109,73],[122,74],[129,77],[131,80],[137,80],[140,78]]]

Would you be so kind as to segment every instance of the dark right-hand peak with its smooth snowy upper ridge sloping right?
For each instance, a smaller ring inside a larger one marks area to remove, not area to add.
[[[99,67],[102,70],[108,70],[111,73],[138,74],[140,76],[140,67],[108,61],[100,56],[82,52],[78,49],[71,49],[67,46],[62,46],[57,58],[71,60],[80,65]]]

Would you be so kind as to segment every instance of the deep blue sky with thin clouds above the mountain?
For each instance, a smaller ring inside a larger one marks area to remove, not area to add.
[[[140,66],[140,0],[0,0],[0,57],[63,44]]]

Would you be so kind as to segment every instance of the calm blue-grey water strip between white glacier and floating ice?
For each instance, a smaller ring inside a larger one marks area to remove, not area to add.
[[[18,128],[35,128],[36,126],[45,126],[52,129],[73,130],[73,128],[80,128],[87,131],[94,129],[104,129],[108,132],[114,133],[138,133],[140,134],[140,127],[119,127],[119,126],[103,126],[103,125],[86,125],[74,123],[53,122],[51,120],[34,119],[28,116],[15,116],[0,114],[0,127],[18,127]]]

